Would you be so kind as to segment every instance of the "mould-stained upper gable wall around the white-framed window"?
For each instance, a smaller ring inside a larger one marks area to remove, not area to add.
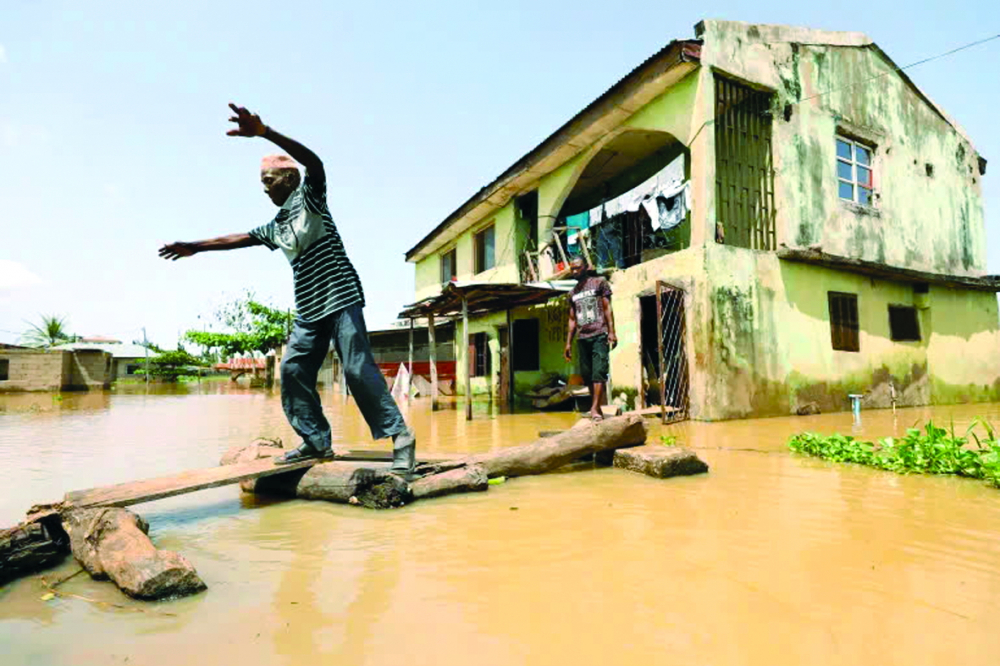
[[[776,93],[779,243],[942,273],[985,270],[975,148],[867,38],[726,21],[704,26],[703,66]],[[787,120],[786,104],[793,105]],[[838,133],[874,147],[874,206],[837,196]]]

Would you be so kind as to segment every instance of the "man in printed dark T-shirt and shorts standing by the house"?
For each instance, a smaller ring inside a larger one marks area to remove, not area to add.
[[[564,355],[573,360],[573,336],[580,353],[580,375],[590,388],[590,418],[604,419],[601,402],[608,381],[610,350],[618,345],[615,317],[611,312],[611,285],[588,270],[583,257],[573,257],[570,272],[576,286],[569,292],[569,330]]]

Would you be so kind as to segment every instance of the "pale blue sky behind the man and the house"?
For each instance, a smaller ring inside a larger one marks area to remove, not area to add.
[[[173,346],[244,288],[292,304],[280,253],[156,255],[274,213],[257,181],[269,145],[225,136],[230,100],[324,158],[374,328],[412,300],[409,247],[702,18],[861,31],[901,65],[1000,32],[995,2],[225,4],[3,1],[0,341],[56,313]],[[994,41],[910,71],[991,160],[992,272],[998,65]]]

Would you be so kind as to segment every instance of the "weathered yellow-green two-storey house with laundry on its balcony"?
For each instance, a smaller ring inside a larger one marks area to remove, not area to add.
[[[584,254],[614,292],[613,395],[635,406],[715,420],[1000,398],[986,160],[962,129],[862,34],[695,32],[420,240],[416,299],[552,280]],[[571,374],[565,331],[564,297],[470,317],[460,390],[463,372],[497,390],[504,340],[517,391]]]

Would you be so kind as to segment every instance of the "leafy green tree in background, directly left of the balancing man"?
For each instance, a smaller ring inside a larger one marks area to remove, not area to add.
[[[266,354],[276,349],[288,338],[294,312],[264,305],[255,299],[253,292],[248,291],[241,298],[222,306],[215,313],[215,318],[228,330],[190,330],[183,339],[228,358],[250,352]]]

